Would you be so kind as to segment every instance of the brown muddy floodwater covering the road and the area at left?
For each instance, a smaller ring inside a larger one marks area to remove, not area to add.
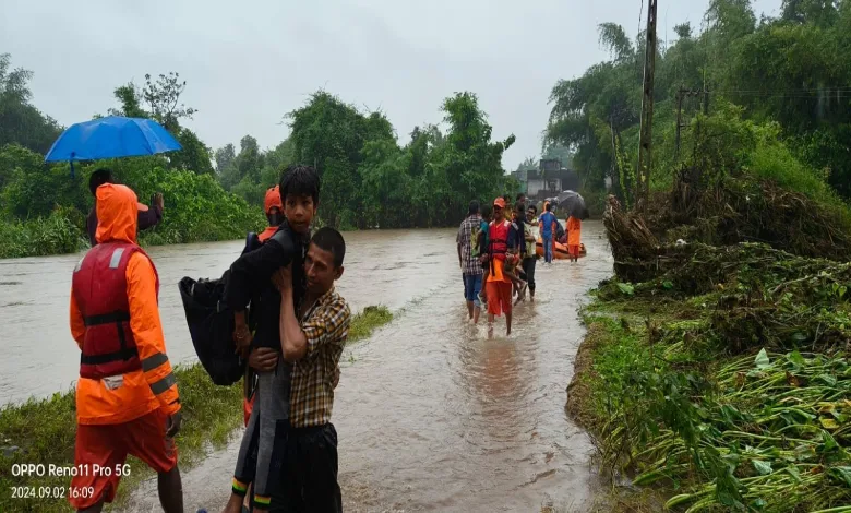
[[[339,290],[358,311],[386,305],[395,320],[343,355],[333,422],[347,511],[586,511],[598,488],[587,436],[564,410],[583,329],[585,293],[612,271],[602,225],[587,222],[588,256],[537,269],[535,302],[515,309],[511,337],[498,320],[467,322],[455,231],[345,234]],[[191,361],[177,284],[216,277],[241,242],[153,248],[160,312],[173,361]],[[67,390],[79,350],[68,329],[71,271],[80,255],[0,260],[0,402]],[[241,418],[241,409],[233,413]],[[219,511],[241,432],[183,469],[187,511]],[[159,511],[155,482],[127,511]]]

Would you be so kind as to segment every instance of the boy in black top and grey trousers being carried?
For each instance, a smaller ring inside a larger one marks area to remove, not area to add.
[[[319,206],[320,179],[310,166],[293,165],[280,179],[279,195],[286,220],[259,249],[241,255],[230,266],[225,301],[235,312],[233,339],[240,350],[268,348],[278,351],[274,370],[257,377],[254,407],[240,445],[233,474],[232,494],[225,511],[238,513],[253,482],[254,510],[278,509],[283,500],[280,472],[284,442],[289,417],[289,381],[291,366],[280,359],[281,298],[272,283],[276,271],[292,265],[291,294],[288,305],[300,305],[304,298],[304,254],[310,225]],[[254,298],[255,302],[252,302]],[[252,335],[245,319],[245,307],[252,302],[256,331]],[[269,366],[271,367],[271,366]]]

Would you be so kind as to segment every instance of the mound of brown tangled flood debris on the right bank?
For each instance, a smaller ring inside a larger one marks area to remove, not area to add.
[[[795,256],[851,255],[847,211],[752,178],[727,178],[702,193],[681,180],[671,193],[655,194],[643,213],[625,212],[609,196],[603,223],[615,274],[633,283],[683,265],[704,246],[719,254],[722,247],[758,242]]]

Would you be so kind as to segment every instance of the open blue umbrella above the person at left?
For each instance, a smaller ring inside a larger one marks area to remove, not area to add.
[[[73,176],[74,160],[155,155],[182,148],[152,119],[109,116],[72,124],[56,140],[45,162],[69,160]]]

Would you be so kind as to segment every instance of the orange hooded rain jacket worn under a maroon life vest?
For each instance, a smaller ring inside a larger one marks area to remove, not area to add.
[[[136,243],[136,194],[125,186],[105,183],[97,188],[96,196],[97,241]],[[81,425],[122,423],[155,409],[168,416],[180,409],[177,383],[166,356],[159,321],[154,264],[144,253],[133,253],[125,276],[130,329],[142,369],[122,374],[121,379],[80,378],[76,383],[76,418]],[[71,334],[81,350],[85,333],[83,314],[72,291]]]

